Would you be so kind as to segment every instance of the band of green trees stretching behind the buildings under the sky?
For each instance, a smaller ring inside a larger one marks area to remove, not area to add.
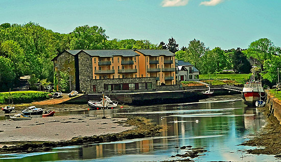
[[[188,61],[200,73],[212,74],[222,70],[249,73],[251,65],[246,57],[253,57],[264,64],[269,80],[276,81],[277,68],[281,70],[279,47],[267,38],[250,43],[247,50],[240,48],[224,51],[205,47],[200,40],[191,40],[179,49],[171,37],[166,44],[153,44],[149,40],[108,40],[105,29],[88,25],[77,27],[73,32],[61,34],[45,29],[35,22],[25,25],[5,23],[0,25],[0,89],[7,90],[18,84],[18,78],[33,76],[33,82],[53,82],[53,62],[63,50],[116,50],[116,49],[163,49],[175,53],[178,60]]]

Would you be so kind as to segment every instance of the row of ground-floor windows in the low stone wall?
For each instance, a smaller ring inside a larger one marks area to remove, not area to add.
[[[120,84],[104,84],[104,90],[136,90],[136,89],[152,89],[152,82],[145,83],[120,83]]]

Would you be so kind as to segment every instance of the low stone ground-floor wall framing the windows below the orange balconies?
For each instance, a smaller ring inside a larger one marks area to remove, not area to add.
[[[91,81],[91,86],[96,85],[96,92],[104,91],[104,84],[120,84],[120,83],[145,83],[151,82],[152,89],[156,89],[155,77],[150,78],[122,78],[122,79],[96,79]],[[144,90],[144,89],[142,89]],[[92,89],[91,91],[92,92]]]

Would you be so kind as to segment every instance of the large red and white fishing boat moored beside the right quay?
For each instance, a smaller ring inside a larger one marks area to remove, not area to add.
[[[255,106],[256,101],[265,100],[265,91],[262,87],[262,82],[255,80],[255,68],[256,66],[253,66],[252,68],[252,75],[249,80],[249,82],[246,82],[244,84],[243,90],[242,90],[242,98],[246,105],[248,106]]]

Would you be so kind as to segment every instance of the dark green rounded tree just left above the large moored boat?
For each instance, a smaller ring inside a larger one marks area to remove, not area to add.
[[[231,62],[233,64],[233,70],[236,72],[246,74],[250,73],[251,64],[247,60],[246,56],[241,52],[240,48],[234,51],[231,55]]]

